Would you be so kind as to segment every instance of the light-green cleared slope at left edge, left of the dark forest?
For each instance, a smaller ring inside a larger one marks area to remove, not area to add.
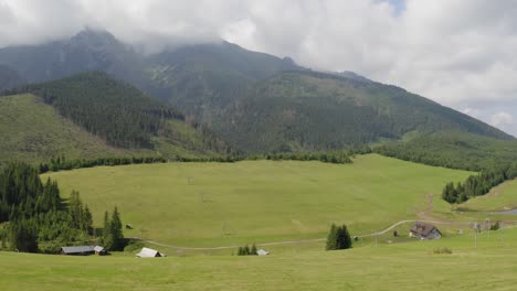
[[[129,153],[107,146],[34,95],[0,97],[0,162],[46,161],[61,154],[89,159]]]

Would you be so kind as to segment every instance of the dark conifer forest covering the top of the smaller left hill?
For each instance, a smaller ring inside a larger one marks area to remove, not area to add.
[[[115,147],[148,148],[168,119],[183,120],[176,109],[151,99],[137,88],[93,72],[60,80],[22,86],[3,94],[32,93]]]

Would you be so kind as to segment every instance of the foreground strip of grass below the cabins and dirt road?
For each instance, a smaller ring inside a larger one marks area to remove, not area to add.
[[[517,229],[342,251],[136,259],[0,252],[2,290],[514,290]],[[500,238],[504,237],[504,240]],[[447,247],[452,255],[433,254]]]

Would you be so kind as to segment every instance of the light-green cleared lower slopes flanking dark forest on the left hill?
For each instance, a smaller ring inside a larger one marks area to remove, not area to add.
[[[161,155],[166,158],[217,154],[208,148],[213,139],[180,120],[169,120],[145,149],[115,148],[104,139],[64,118],[34,95],[0,97],[0,163],[10,160],[49,161],[104,157]],[[213,144],[212,147],[218,147]]]

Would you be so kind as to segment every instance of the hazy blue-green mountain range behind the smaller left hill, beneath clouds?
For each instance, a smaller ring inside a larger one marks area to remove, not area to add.
[[[416,151],[414,154],[429,158],[420,160],[442,163],[430,151],[412,144],[425,140],[435,143],[432,137],[436,134],[454,137],[447,132],[467,137],[464,143],[474,148],[472,143],[479,140],[484,140],[483,144],[515,140],[402,88],[352,72],[314,72],[288,57],[247,51],[223,41],[148,55],[107,32],[86,30],[70,40],[1,48],[0,64],[12,67],[29,82],[85,71],[106,72],[178,108],[184,120],[207,125],[232,148],[250,153],[335,150],[367,143],[387,144],[392,154],[409,147]],[[104,138],[109,141],[108,136]],[[149,140],[122,142],[151,147]],[[452,142],[444,149],[460,152],[461,144]],[[383,149],[388,154],[388,148]]]

